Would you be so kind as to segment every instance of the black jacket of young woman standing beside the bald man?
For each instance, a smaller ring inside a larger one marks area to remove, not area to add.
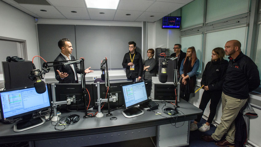
[[[209,91],[222,91],[227,69],[227,60],[208,62],[202,74],[201,85],[208,86]]]

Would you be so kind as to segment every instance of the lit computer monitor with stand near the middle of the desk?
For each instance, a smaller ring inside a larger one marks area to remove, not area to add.
[[[123,115],[127,118],[135,117],[144,114],[137,106],[147,102],[148,96],[146,92],[146,86],[144,81],[139,81],[135,83],[129,83],[121,85],[124,108],[126,110],[122,111]]]

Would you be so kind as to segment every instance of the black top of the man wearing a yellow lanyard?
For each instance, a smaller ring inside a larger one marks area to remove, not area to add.
[[[134,56],[135,54],[135,56]],[[127,52],[122,61],[123,68],[126,68],[126,77],[130,78],[137,78],[142,76],[143,66],[142,66],[142,57],[139,52],[135,51],[134,54],[130,54],[130,51]],[[134,70],[130,70],[130,66],[128,66],[128,63],[131,62],[130,60],[134,56],[133,64],[134,64]]]

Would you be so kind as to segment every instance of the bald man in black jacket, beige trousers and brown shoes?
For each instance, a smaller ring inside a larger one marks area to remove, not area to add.
[[[258,88],[260,78],[257,66],[241,52],[241,43],[230,40],[225,45],[225,54],[228,55],[228,70],[223,84],[221,122],[210,136],[201,136],[204,141],[216,141],[216,145],[235,145],[235,122],[240,109],[247,102],[249,92]],[[221,140],[223,136],[226,139]]]

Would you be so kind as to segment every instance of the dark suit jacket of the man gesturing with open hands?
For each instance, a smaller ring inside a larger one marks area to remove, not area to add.
[[[71,55],[71,60],[75,60],[75,58]],[[66,61],[66,59],[64,58],[64,56],[60,53],[54,61]],[[60,63],[53,63],[53,65],[56,64],[63,64],[65,62],[60,62]],[[77,67],[77,64],[73,64],[73,67],[76,71],[76,73],[81,74],[81,70]],[[54,68],[54,72],[55,72],[55,78],[56,80],[59,81],[59,83],[76,83],[75,81],[75,76],[74,76],[74,72],[72,70],[72,66],[71,65],[59,65],[59,66],[53,66]],[[59,70],[60,72],[63,73],[67,73],[68,77],[65,77],[64,79],[60,78],[60,75],[58,74],[58,72],[56,70]],[[78,77],[77,77],[78,78]],[[78,79],[77,79],[78,81]]]

